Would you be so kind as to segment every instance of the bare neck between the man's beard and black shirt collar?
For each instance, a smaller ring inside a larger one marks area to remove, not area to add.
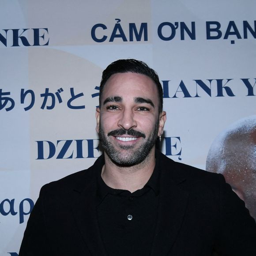
[[[117,166],[105,154],[102,179],[110,188],[134,192],[144,187],[151,177],[155,166],[155,149],[152,148],[143,162],[134,166]]]

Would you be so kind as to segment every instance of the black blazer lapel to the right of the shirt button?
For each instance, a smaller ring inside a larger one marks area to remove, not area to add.
[[[175,163],[170,166],[169,161],[165,162],[164,160],[161,165],[169,168],[160,170],[158,221],[151,256],[166,256],[172,248],[184,219],[189,195],[179,188],[179,184],[184,182],[185,178],[174,177],[173,173],[179,173],[175,169]]]

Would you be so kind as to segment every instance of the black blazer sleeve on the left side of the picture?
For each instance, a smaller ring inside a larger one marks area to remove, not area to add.
[[[30,213],[19,256],[49,256],[48,248],[44,219],[44,187],[42,187],[39,198]]]

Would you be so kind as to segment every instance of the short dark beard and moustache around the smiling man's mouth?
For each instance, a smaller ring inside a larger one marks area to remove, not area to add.
[[[156,142],[158,136],[158,124],[159,122],[155,124],[154,131],[151,133],[148,139],[146,139],[145,134],[142,132],[138,132],[133,129],[127,131],[124,130],[123,128],[109,132],[108,135],[105,136],[101,124],[99,124],[99,137],[101,140],[102,147],[111,159],[111,161],[118,166],[134,166],[136,164],[139,164],[147,158],[149,152],[151,151],[152,147]],[[136,146],[133,145],[114,146],[113,143],[109,141],[109,136],[120,136],[124,134],[142,137],[144,141],[139,146],[139,148],[135,148]]]

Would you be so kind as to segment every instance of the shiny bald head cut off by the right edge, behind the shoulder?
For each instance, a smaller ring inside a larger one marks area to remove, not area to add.
[[[217,136],[206,169],[222,173],[256,219],[256,116],[231,124]]]

